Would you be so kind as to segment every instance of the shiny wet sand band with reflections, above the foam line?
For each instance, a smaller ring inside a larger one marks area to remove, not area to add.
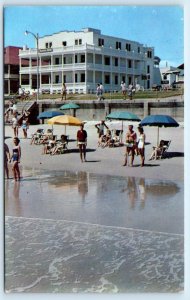
[[[7,215],[183,233],[180,182],[68,171],[27,176],[10,185]]]

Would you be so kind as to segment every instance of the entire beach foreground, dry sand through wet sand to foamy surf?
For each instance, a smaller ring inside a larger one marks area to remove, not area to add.
[[[4,185],[7,293],[183,291],[183,124],[160,129],[159,140],[171,145],[168,157],[156,161],[148,158],[157,128],[145,127],[145,166],[135,156],[134,166],[124,167],[125,147],[98,147],[95,123],[85,124],[83,163],[78,127],[66,128],[69,151],[54,156],[30,145],[37,128],[51,126],[30,126],[27,139],[19,130],[22,178]],[[59,138],[65,127],[53,129]],[[5,138],[11,152],[11,126]]]

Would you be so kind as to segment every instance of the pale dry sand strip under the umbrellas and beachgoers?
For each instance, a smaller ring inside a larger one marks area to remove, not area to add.
[[[21,166],[23,169],[32,168],[36,170],[69,170],[69,171],[85,171],[89,173],[107,174],[116,176],[132,176],[152,179],[167,179],[180,180],[184,179],[184,127],[180,124],[177,128],[160,128],[159,140],[171,140],[168,149],[168,157],[149,161],[152,147],[156,145],[157,128],[144,127],[146,134],[146,150],[145,150],[145,166],[140,167],[140,157],[135,156],[133,167],[124,167],[125,146],[104,148],[98,147],[98,134],[95,124],[98,121],[87,121],[85,130],[88,134],[87,144],[87,162],[81,163],[78,147],[76,145],[76,133],[78,127],[67,126],[66,133],[71,140],[68,144],[69,151],[61,155],[51,156],[49,154],[42,155],[42,145],[30,145],[32,133],[37,128],[51,128],[48,124],[31,125],[28,130],[28,138],[23,138],[22,129],[19,129],[20,145],[22,148]],[[120,128],[121,122],[108,121],[106,122],[110,128]],[[131,122],[124,122],[125,137],[128,124]],[[132,123],[134,130],[137,132],[137,123]],[[61,125],[54,125],[54,134],[58,137],[64,133],[65,127]],[[11,151],[13,146],[13,129],[11,126],[5,126],[6,143]],[[24,176],[24,174],[23,174]]]

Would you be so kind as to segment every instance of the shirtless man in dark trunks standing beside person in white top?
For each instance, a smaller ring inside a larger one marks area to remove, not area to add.
[[[129,154],[131,154],[131,164],[130,166],[133,166],[133,161],[135,157],[135,149],[136,149],[136,140],[137,140],[137,134],[133,130],[133,125],[128,126],[128,131],[126,134],[126,153],[125,153],[125,161],[123,166],[127,166],[127,160]]]

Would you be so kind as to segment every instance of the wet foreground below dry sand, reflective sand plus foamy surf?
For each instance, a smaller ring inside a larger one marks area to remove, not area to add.
[[[7,292],[183,290],[182,182],[23,174],[5,182]]]

